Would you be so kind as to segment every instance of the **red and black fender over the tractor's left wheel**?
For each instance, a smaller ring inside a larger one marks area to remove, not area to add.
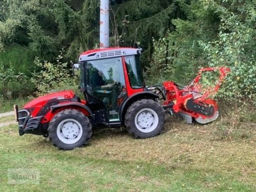
[[[86,105],[77,102],[69,102],[51,106],[51,110],[46,115],[44,115],[44,118],[41,123],[50,122],[55,114],[59,113],[64,109],[70,108],[81,111],[85,116],[93,117],[92,110]]]

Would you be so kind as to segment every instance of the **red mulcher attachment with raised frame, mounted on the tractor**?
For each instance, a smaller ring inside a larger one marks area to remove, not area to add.
[[[217,70],[220,73],[218,83],[203,91],[199,83],[202,73]],[[167,108],[171,114],[180,114],[189,124],[193,119],[201,124],[216,120],[219,116],[218,105],[209,96],[219,90],[229,71],[230,69],[226,67],[202,68],[192,83],[186,87],[180,87],[172,81],[164,82],[166,100],[163,107]]]

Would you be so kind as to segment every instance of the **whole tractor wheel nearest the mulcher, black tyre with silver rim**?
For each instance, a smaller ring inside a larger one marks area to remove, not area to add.
[[[125,126],[135,138],[149,138],[158,135],[164,126],[166,116],[159,103],[150,99],[134,102],[125,114]]]

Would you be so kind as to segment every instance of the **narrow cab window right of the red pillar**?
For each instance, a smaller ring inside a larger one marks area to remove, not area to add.
[[[130,85],[133,89],[138,89],[144,86],[142,69],[140,66],[139,55],[131,55],[124,57]]]

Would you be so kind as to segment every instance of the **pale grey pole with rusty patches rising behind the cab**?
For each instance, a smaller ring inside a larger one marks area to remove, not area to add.
[[[100,0],[100,48],[109,47],[109,0]]]

